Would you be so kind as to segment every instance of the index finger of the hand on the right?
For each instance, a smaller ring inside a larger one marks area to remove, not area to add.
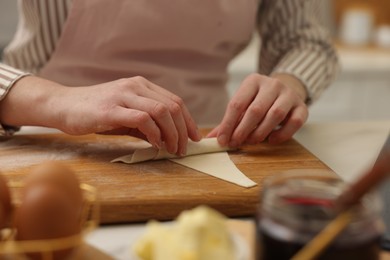
[[[233,131],[239,124],[242,115],[257,94],[258,88],[244,82],[232,100],[229,102],[225,115],[219,125],[218,142],[227,146],[230,143]]]

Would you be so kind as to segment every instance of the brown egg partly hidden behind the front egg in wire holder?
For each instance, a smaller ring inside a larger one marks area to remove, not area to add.
[[[36,184],[50,183],[64,190],[75,208],[81,210],[83,195],[75,173],[65,164],[49,161],[32,169],[25,182],[24,193]]]

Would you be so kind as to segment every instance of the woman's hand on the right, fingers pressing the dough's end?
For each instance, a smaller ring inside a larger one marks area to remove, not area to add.
[[[257,144],[267,137],[270,143],[281,143],[306,122],[305,99],[304,86],[293,76],[252,74],[242,82],[222,122],[208,137],[216,136],[221,145],[231,147]]]

